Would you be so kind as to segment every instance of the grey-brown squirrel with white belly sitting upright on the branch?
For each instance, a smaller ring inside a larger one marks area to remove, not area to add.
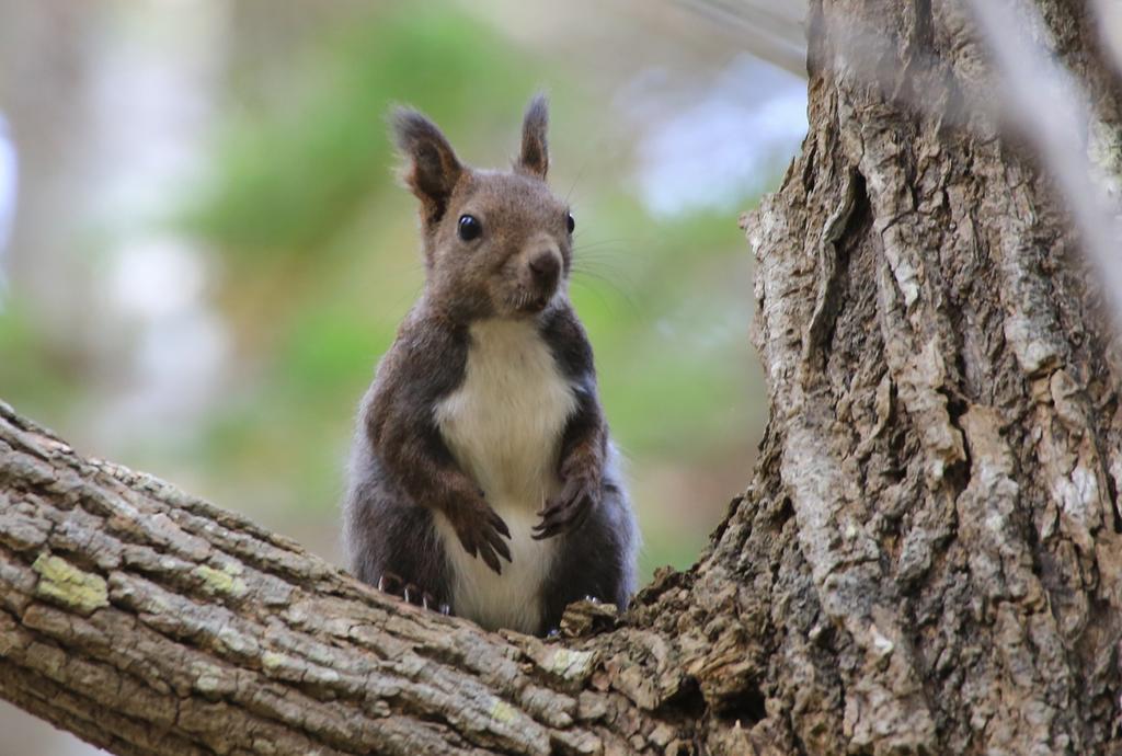
[[[390,121],[425,283],[360,405],[350,569],[491,630],[544,635],[580,599],[624,608],[638,531],[569,301],[576,222],[545,182],[545,98],[508,172],[460,163],[416,110]]]

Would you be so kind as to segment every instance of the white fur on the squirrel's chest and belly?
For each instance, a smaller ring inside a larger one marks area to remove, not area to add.
[[[532,322],[480,321],[470,335],[463,382],[436,405],[435,420],[457,461],[511,529],[512,562],[500,560],[503,574],[495,574],[436,514],[453,573],[453,608],[490,629],[533,633],[557,540],[534,541],[531,528],[559,488],[561,435],[577,400]]]

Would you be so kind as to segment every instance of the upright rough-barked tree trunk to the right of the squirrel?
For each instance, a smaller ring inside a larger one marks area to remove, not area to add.
[[[1037,4],[1116,135],[1088,9]],[[751,566],[760,726],[819,753],[1115,750],[1122,372],[1093,276],[976,109],[999,84],[969,15],[825,6],[803,153],[747,223],[772,414],[733,551],[779,554]]]

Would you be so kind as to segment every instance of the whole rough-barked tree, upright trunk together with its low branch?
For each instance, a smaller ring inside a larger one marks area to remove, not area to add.
[[[1038,6],[1116,131],[1083,3]],[[1122,752],[1122,359],[1075,234],[968,107],[958,6],[809,29],[745,222],[771,420],[692,570],[487,634],[4,409],[0,695],[119,754]]]

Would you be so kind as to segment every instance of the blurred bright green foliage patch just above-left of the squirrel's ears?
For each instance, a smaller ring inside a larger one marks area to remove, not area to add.
[[[517,103],[537,79],[494,31],[447,7],[367,13],[307,52],[285,102],[246,113],[220,142],[219,181],[194,227],[239,262],[334,248],[385,187],[390,103],[410,102],[441,123],[485,126],[485,110]]]

